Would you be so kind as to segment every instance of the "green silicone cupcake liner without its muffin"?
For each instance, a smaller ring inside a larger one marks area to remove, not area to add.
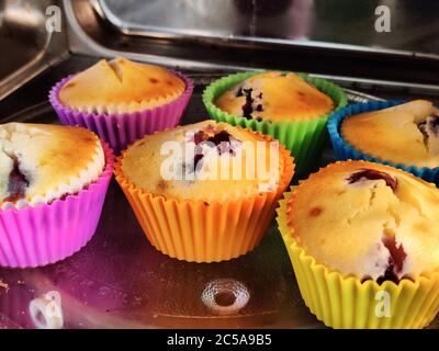
[[[241,72],[214,81],[203,92],[204,105],[211,117],[216,121],[248,127],[271,135],[278,139],[291,151],[296,165],[296,173],[301,176],[318,163],[327,140],[326,123],[328,116],[334,112],[309,121],[259,122],[254,118],[247,120],[245,117],[230,115],[214,105],[213,102],[228,88],[260,72]],[[346,106],[348,99],[341,88],[322,78],[302,73],[299,76],[329,95],[334,100],[335,111]]]

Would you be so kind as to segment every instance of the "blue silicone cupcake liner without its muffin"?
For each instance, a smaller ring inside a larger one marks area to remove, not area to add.
[[[342,109],[336,112],[328,121],[328,132],[330,136],[330,140],[333,143],[334,151],[338,160],[367,160],[378,163],[383,163],[392,167],[396,167],[404,171],[410,172],[416,177],[423,178],[424,180],[435,183],[439,185],[439,168],[417,168],[415,166],[406,166],[402,163],[392,163],[390,161],[385,161],[353,148],[350,144],[348,144],[340,134],[340,126],[345,118],[356,115],[359,113],[378,111],[387,107],[392,107],[398,104],[404,103],[405,101],[373,101],[367,103],[359,103],[349,105],[346,109]]]

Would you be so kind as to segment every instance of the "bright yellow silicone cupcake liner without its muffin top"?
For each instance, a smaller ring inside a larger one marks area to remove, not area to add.
[[[286,203],[291,193],[280,201],[278,224],[289,252],[302,297],[309,310],[327,327],[333,328],[424,328],[439,312],[439,273],[432,272],[415,281],[398,284],[385,281],[361,282],[344,276],[317,263],[306,254],[291,235],[286,220]],[[386,316],[381,305],[390,303]]]

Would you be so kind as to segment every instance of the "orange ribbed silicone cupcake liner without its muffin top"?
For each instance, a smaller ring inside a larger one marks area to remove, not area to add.
[[[144,192],[124,177],[124,152],[115,176],[157,250],[189,262],[219,262],[251,251],[264,236],[294,173],[290,152],[281,145],[280,152],[285,167],[275,191],[225,202],[177,201]]]

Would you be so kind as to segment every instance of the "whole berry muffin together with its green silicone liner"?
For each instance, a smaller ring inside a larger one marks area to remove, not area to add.
[[[213,82],[203,93],[219,122],[271,135],[294,156],[303,174],[318,162],[327,117],[347,104],[337,86],[293,72],[244,72]]]

